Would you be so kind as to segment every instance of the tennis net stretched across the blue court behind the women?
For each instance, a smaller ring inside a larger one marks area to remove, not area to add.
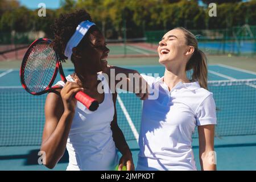
[[[216,135],[255,135],[256,79],[209,81],[208,87],[218,109]],[[40,145],[45,99],[20,87],[0,88],[0,146]],[[118,94],[118,125],[126,140],[138,139],[141,111],[142,102],[134,94]]]

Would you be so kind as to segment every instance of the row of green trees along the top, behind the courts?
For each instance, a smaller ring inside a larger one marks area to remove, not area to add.
[[[203,0],[208,4],[212,1]],[[230,28],[243,24],[255,25],[256,0],[216,0],[217,17],[209,17],[207,6],[197,0],[61,0],[61,7],[48,10],[46,17],[39,17],[37,10],[20,7],[18,1],[0,0],[0,30],[27,32],[42,30],[51,37],[50,24],[61,13],[85,9],[93,22],[101,28],[106,38],[143,36],[145,30],[170,30],[177,26],[188,29]],[[232,2],[232,3],[231,3]],[[207,24],[207,26],[205,26]]]

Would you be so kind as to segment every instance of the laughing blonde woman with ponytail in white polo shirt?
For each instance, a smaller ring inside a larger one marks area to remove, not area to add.
[[[142,75],[158,98],[143,102],[137,170],[196,170],[192,134],[198,127],[202,170],[216,170],[213,94],[207,90],[207,59],[183,27],[168,31],[158,47],[161,78]],[[191,78],[186,72],[192,70]]]

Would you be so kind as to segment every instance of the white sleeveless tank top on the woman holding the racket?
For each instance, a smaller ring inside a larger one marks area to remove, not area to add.
[[[68,81],[74,81],[70,75]],[[114,117],[114,104],[108,81],[102,74],[98,80],[104,86],[104,101],[96,111],[88,110],[77,101],[75,116],[67,140],[69,164],[67,170],[114,170],[118,164],[117,149],[110,123]],[[63,81],[56,85],[64,85]]]

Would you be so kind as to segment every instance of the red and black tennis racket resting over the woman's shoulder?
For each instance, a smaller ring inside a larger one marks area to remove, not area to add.
[[[32,95],[41,95],[63,88],[59,85],[52,86],[58,71],[61,80],[67,82],[59,56],[50,44],[49,39],[37,39],[30,45],[23,57],[20,81],[23,88]],[[77,92],[75,98],[91,111],[98,108],[98,102],[84,92]]]

